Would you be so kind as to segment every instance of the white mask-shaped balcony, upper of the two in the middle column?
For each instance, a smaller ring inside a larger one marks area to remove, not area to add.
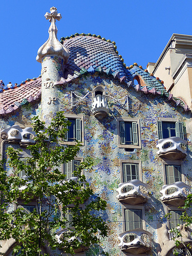
[[[117,199],[123,204],[144,204],[148,199],[147,185],[140,180],[120,183],[116,191]]]

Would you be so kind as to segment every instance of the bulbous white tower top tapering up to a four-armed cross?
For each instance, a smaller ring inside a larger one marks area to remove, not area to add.
[[[49,22],[51,22],[49,28],[49,38],[45,44],[38,49],[36,60],[41,63],[45,56],[54,54],[63,58],[64,63],[67,63],[69,51],[63,47],[57,39],[57,27],[55,25],[56,19],[60,20],[62,18],[61,14],[57,13],[57,8],[52,7],[50,8],[50,13],[46,12],[45,17],[46,19],[49,19]]]

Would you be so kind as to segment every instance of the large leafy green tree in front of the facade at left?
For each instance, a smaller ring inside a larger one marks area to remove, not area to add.
[[[28,146],[31,157],[25,161],[18,157],[20,150],[8,147],[12,175],[7,176],[5,160],[1,162],[0,240],[14,239],[13,253],[20,256],[49,255],[49,248],[73,254],[79,247],[98,244],[99,237],[107,234],[105,223],[96,217],[98,211],[105,210],[106,202],[93,195],[81,175],[92,161],[78,166],[77,179],[66,180],[60,172],[61,164],[73,160],[79,151],[79,143],[69,147],[59,143],[70,122],[58,112],[46,130],[44,125],[34,118],[35,144]],[[19,177],[20,172],[25,176]],[[32,203],[35,207],[29,209]],[[64,230],[59,237],[58,228]]]

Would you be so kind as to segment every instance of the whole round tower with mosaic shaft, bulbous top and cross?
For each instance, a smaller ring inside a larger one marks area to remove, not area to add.
[[[63,77],[64,64],[69,58],[69,51],[61,45],[57,39],[57,27],[55,21],[61,19],[57,8],[50,8],[46,12],[46,19],[51,22],[49,38],[38,52],[36,60],[41,63],[41,119],[49,123],[57,111],[62,110],[58,101],[58,81]]]

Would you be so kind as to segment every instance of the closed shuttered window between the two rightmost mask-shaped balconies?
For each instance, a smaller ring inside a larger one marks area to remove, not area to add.
[[[182,181],[181,165],[165,165],[166,184]]]

